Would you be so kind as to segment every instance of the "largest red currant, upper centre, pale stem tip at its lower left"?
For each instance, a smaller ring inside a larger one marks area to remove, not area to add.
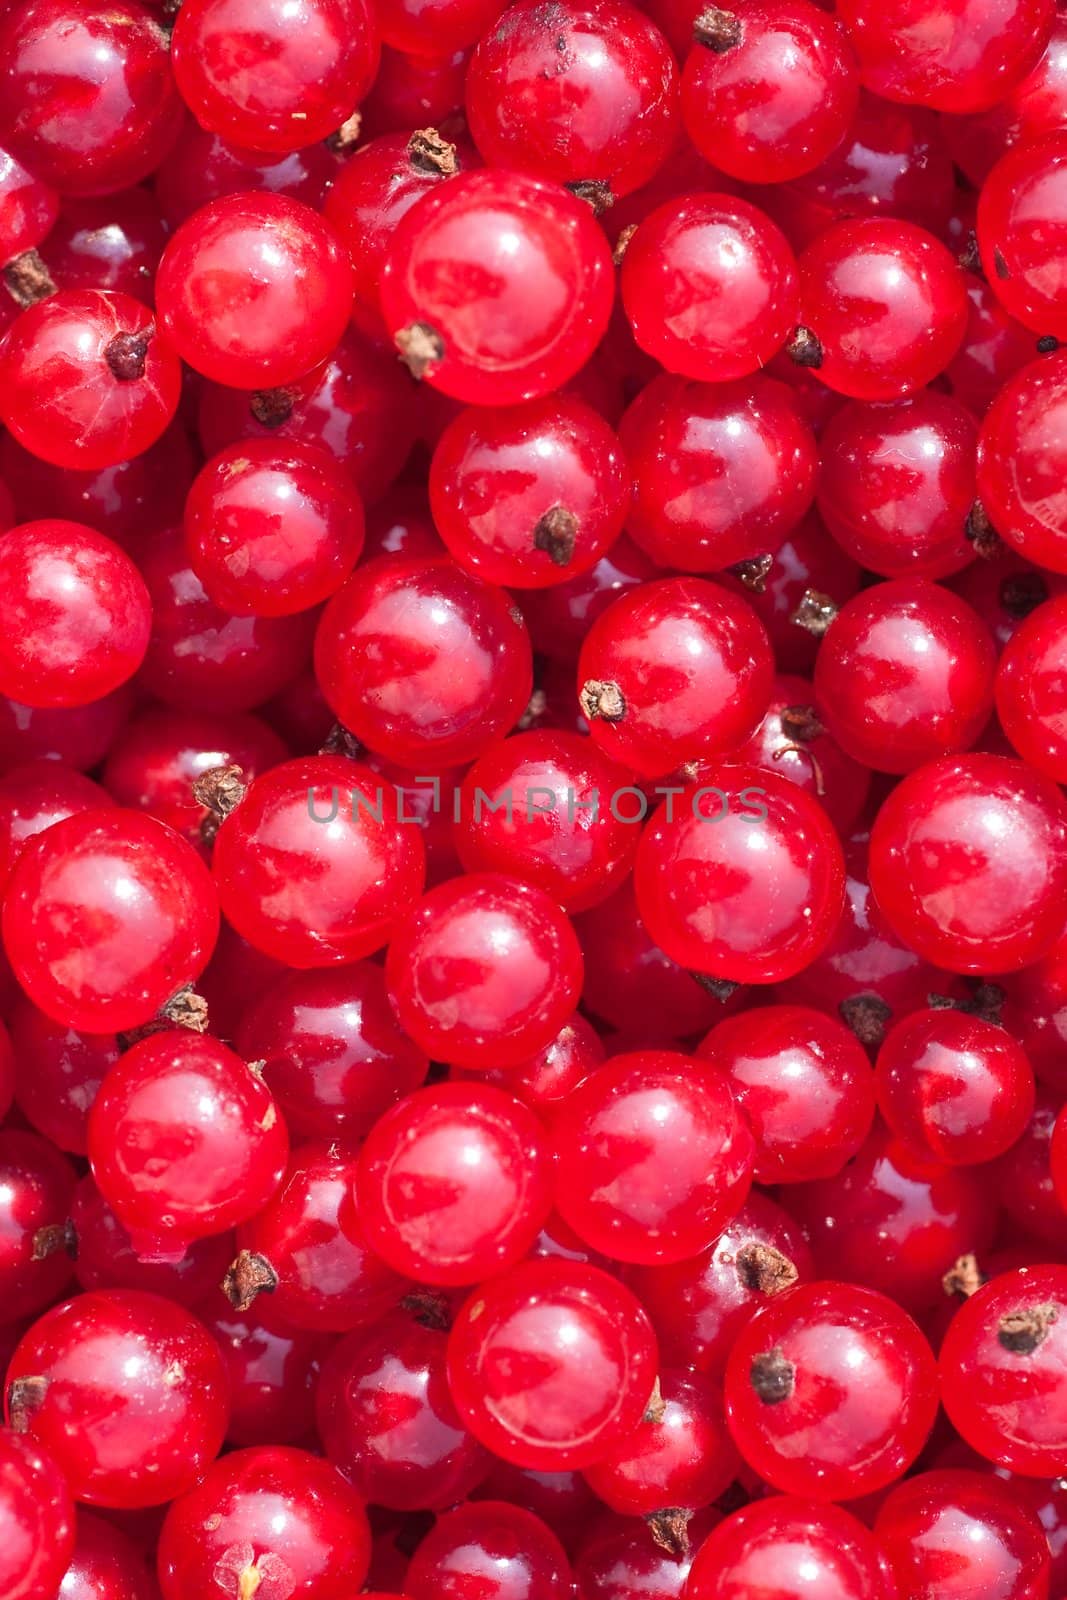
[[[494,170],[424,195],[397,226],[381,283],[413,370],[467,405],[517,405],[568,382],[600,342],[613,293],[585,202]],[[410,344],[413,328],[430,330],[429,346],[426,334]]]

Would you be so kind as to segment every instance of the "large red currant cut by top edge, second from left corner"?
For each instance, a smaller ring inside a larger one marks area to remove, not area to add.
[[[181,24],[181,26],[179,26]],[[197,122],[250,150],[299,150],[341,126],[378,70],[366,0],[192,0],[171,38]]]

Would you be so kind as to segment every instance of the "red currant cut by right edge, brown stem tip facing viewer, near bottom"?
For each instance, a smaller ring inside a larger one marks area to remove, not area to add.
[[[987,1461],[1054,1478],[1067,1462],[1067,1267],[1019,1267],[960,1306],[941,1346],[941,1398]]]

